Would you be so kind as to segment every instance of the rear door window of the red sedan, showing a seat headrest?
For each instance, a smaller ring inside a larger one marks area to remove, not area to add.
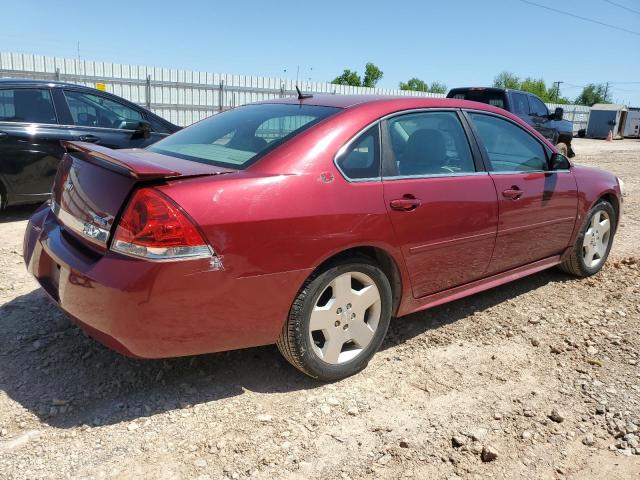
[[[455,112],[409,113],[387,125],[394,158],[385,177],[475,172],[469,141]]]

